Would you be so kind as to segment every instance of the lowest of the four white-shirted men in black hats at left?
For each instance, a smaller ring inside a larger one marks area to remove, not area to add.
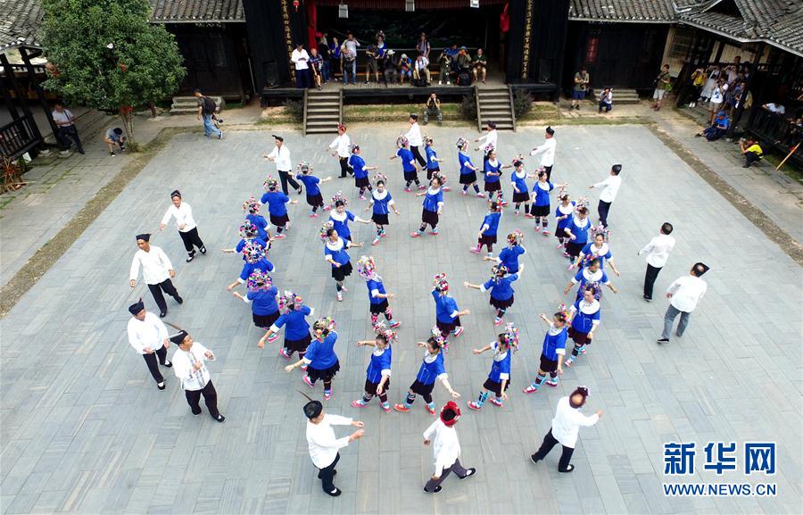
[[[190,405],[193,415],[201,414],[201,395],[206,409],[212,419],[223,422],[226,417],[218,411],[218,392],[211,382],[211,374],[206,368],[205,361],[215,361],[215,355],[201,344],[195,343],[185,330],[178,331],[177,335],[170,336],[170,341],[178,345],[173,353],[173,372],[181,380],[184,388],[186,403]]]

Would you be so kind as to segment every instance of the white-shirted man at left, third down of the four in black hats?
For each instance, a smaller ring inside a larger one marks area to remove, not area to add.
[[[128,320],[128,343],[145,358],[145,364],[153,380],[156,381],[156,387],[163,390],[164,378],[159,371],[159,364],[169,369],[173,366],[167,359],[167,348],[170,346],[167,328],[156,315],[145,311],[142,299],[128,306],[128,312],[133,317]]]

